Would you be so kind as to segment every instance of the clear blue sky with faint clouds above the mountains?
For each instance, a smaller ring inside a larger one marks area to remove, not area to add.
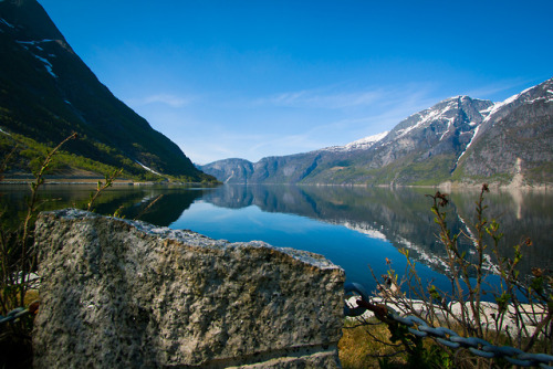
[[[553,76],[553,1],[39,0],[119,99],[195,162],[392,129]]]

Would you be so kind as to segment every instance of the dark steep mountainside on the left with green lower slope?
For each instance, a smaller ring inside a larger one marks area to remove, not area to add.
[[[12,171],[76,131],[54,169],[212,179],[96,78],[35,0],[0,1],[0,149],[17,145]]]

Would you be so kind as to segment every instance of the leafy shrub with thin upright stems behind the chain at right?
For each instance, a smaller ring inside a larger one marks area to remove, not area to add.
[[[510,346],[525,352],[551,354],[553,277],[547,271],[538,268],[530,276],[519,272],[523,249],[532,244],[529,239],[513,246],[513,257],[503,256],[500,225],[486,218],[487,192],[489,188],[483,184],[476,201],[473,224],[468,231],[458,233],[452,233],[448,225],[448,196],[439,191],[428,196],[438,225],[437,238],[446,251],[441,262],[447,266],[450,288],[442,291],[432,282],[422,281],[408,250],[403,250],[407,261],[404,275],[399,276],[389,266],[388,274],[383,276],[384,281],[377,281],[382,292],[380,303],[392,306],[401,315],[418,317],[428,326],[442,326],[463,337],[477,337],[494,346]],[[460,238],[466,238],[472,244],[472,257],[461,251]],[[499,282],[490,283],[491,277],[499,277]],[[487,296],[492,296],[492,302],[486,302]],[[508,365],[501,359],[491,361],[465,349],[456,351],[438,344],[431,350],[426,349],[421,339],[405,326],[384,320],[392,335],[390,342],[398,342],[401,347],[396,352],[405,352],[406,360],[411,365]]]

